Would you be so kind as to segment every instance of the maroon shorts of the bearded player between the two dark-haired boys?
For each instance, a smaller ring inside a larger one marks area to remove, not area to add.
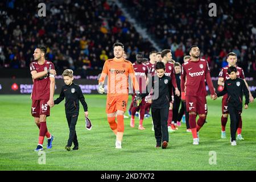
[[[186,96],[186,108],[188,112],[207,114],[207,100],[205,96]]]

